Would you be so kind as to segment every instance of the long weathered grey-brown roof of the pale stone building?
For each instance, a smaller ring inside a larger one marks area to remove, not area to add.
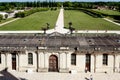
[[[54,32],[46,35],[0,35],[0,50],[101,50],[119,51],[120,35],[79,35]]]

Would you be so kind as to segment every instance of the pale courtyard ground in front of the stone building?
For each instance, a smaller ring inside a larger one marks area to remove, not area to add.
[[[120,73],[26,73],[26,72],[0,72],[0,80],[120,80]]]

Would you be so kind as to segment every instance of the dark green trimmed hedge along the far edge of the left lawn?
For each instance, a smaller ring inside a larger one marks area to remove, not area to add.
[[[49,8],[34,8],[34,9],[31,9],[31,10],[28,10],[28,11],[24,11],[24,12],[18,12],[15,14],[15,17],[26,17],[26,16],[29,16],[33,13],[36,13],[36,12],[39,12],[39,11],[48,11]]]

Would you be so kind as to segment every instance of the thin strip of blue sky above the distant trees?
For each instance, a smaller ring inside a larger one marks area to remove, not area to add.
[[[0,0],[0,2],[24,2],[24,1],[80,1],[80,2],[98,2],[98,1],[113,1],[113,2],[119,2],[120,0]]]

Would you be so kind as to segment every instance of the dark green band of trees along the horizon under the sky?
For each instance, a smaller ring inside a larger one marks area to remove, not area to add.
[[[12,10],[12,9],[24,9],[25,7],[74,7],[74,8],[96,8],[98,6],[108,6],[110,8],[115,7],[120,11],[120,2],[1,2],[0,11]]]

